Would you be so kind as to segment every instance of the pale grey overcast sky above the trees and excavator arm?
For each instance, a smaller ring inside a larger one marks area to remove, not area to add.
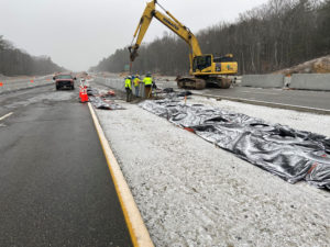
[[[147,0],[0,0],[0,35],[31,55],[48,55],[72,70],[87,70],[129,45]],[[233,22],[267,0],[158,0],[193,33]],[[166,26],[153,20],[144,42]]]

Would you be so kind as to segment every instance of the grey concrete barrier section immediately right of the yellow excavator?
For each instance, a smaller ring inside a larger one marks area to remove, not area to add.
[[[242,76],[242,87],[254,88],[283,88],[283,75],[244,75]]]

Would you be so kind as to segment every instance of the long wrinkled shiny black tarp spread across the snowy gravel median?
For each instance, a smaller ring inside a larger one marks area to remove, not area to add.
[[[330,190],[330,139],[323,135],[202,104],[186,105],[179,99],[144,101],[140,106],[290,183],[306,180]]]

